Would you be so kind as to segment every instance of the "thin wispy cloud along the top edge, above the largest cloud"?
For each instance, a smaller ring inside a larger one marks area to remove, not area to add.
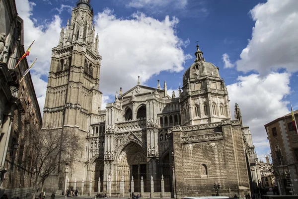
[[[156,8],[171,5],[175,8],[183,9],[188,0],[130,0],[126,5],[135,8]]]

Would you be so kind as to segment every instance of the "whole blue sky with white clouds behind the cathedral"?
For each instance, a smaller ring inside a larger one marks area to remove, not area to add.
[[[25,47],[41,110],[51,48],[76,0],[16,0],[24,19]],[[233,115],[241,108],[257,154],[269,154],[264,124],[298,109],[297,0],[91,0],[102,55],[99,90],[104,103],[115,92],[166,80],[176,92],[193,63],[199,41],[206,61],[220,67]],[[32,59],[32,60],[31,60]],[[116,81],[115,81],[116,80]],[[104,104],[103,104],[104,107]]]

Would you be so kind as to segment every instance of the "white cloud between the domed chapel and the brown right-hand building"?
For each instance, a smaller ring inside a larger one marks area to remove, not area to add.
[[[271,73],[265,78],[252,74],[240,76],[228,85],[231,112],[237,102],[241,109],[243,125],[248,125],[253,135],[257,153],[269,149],[264,125],[289,113],[284,97],[291,93],[289,73]],[[267,148],[264,146],[267,143]]]

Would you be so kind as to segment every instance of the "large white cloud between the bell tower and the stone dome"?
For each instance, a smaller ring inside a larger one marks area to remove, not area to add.
[[[120,87],[126,92],[161,71],[180,72],[190,55],[185,55],[183,41],[176,35],[177,18],[159,21],[134,13],[130,19],[117,18],[109,9],[95,17],[99,34],[101,62],[99,90],[113,95]],[[117,81],[115,81],[117,80]]]

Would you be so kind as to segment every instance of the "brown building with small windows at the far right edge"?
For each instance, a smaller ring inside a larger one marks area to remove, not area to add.
[[[294,111],[298,121],[298,110]],[[265,124],[279,193],[298,195],[298,134],[291,113]]]

